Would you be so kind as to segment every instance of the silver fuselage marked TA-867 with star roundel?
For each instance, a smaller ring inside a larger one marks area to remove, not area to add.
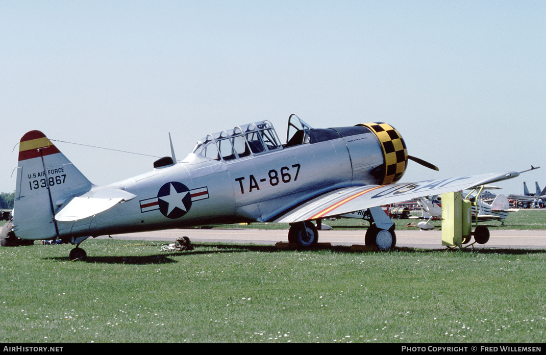
[[[376,184],[371,172],[381,164],[381,147],[369,131],[230,161],[192,153],[110,185],[136,198],[57,226],[62,237],[265,222],[318,192]]]

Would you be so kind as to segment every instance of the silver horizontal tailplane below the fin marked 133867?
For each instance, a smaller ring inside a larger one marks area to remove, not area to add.
[[[61,222],[78,221],[108,210],[120,202],[135,198],[136,195],[118,188],[97,188],[72,198],[55,215]]]

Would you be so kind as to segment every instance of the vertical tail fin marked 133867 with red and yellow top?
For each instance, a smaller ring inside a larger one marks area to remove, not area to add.
[[[91,182],[40,131],[23,135],[14,201],[14,232],[22,239],[58,236],[54,216],[75,194],[91,190]]]

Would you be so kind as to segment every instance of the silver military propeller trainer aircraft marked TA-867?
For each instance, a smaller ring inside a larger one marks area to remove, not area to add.
[[[2,242],[61,240],[79,245],[90,236],[241,222],[290,223],[288,241],[318,241],[311,221],[366,210],[365,243],[395,246],[394,223],[381,205],[459,191],[514,178],[499,174],[397,183],[408,159],[406,144],[387,123],[312,128],[291,115],[287,143],[269,121],[207,134],[177,162],[158,159],[149,173],[111,185],[93,185],[40,131],[23,135],[13,222]]]

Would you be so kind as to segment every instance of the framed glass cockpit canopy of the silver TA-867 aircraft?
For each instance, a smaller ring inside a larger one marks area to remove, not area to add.
[[[282,149],[275,128],[268,120],[236,126],[228,131],[207,134],[192,153],[205,158],[229,161]]]

